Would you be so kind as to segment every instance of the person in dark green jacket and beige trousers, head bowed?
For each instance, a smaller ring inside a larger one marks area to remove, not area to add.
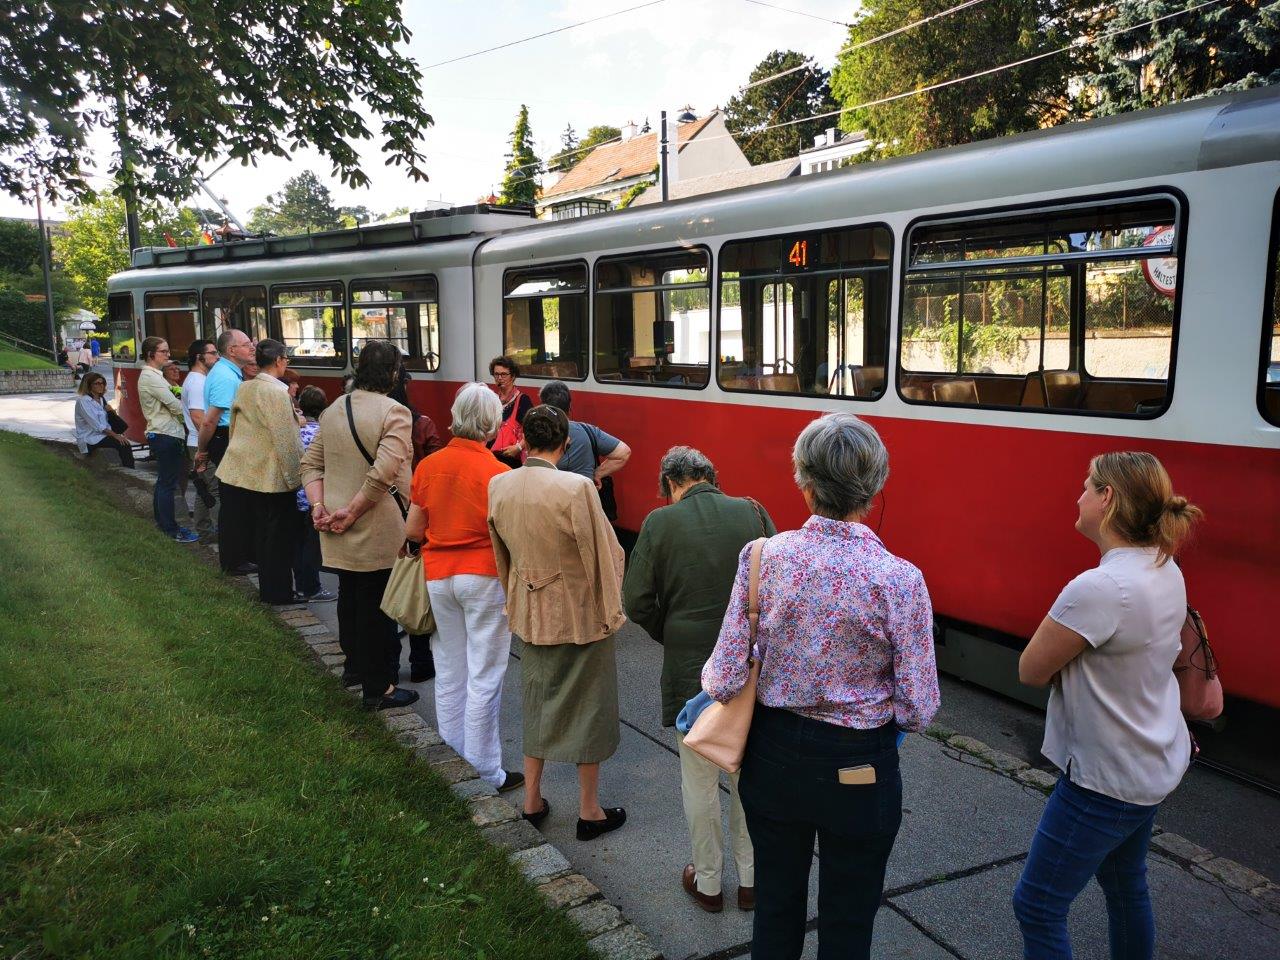
[[[662,722],[671,727],[685,701],[701,689],[703,664],[719,636],[721,621],[737,575],[737,558],[751,540],[777,530],[751,499],[726,497],[716,485],[716,467],[699,451],[672,447],[658,471],[669,507],[650,513],[640,529],[622,584],[627,616],[663,645]],[[694,861],[681,883],[701,909],[724,905],[721,872],[719,768],[685,748],[678,731],[680,790]],[[737,905],[755,908],[755,854],[737,797],[737,774],[730,777],[730,845],[737,865]]]

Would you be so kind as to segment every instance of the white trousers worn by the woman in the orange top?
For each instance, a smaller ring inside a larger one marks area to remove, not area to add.
[[[435,724],[452,746],[492,786],[502,769],[498,712],[511,657],[507,600],[498,577],[458,573],[428,580],[435,614]]]

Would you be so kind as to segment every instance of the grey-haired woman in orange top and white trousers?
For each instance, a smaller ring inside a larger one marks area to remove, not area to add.
[[[444,742],[498,790],[525,774],[502,768],[498,712],[511,655],[507,602],[489,539],[489,480],[511,467],[485,447],[502,403],[480,383],[453,401],[453,439],[413,471],[404,536],[422,543],[422,571],[435,613],[435,722]]]

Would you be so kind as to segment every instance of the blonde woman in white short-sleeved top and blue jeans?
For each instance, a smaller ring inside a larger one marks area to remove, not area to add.
[[[1190,763],[1174,660],[1187,618],[1178,550],[1201,511],[1149,453],[1089,463],[1075,529],[1102,562],[1066,585],[1018,664],[1052,684],[1044,755],[1062,771],[1014,892],[1024,956],[1071,956],[1066,914],[1097,877],[1114,960],[1148,960],[1156,924],[1147,842],[1160,803]]]

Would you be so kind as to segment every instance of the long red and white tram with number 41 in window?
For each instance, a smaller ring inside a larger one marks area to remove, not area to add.
[[[1019,696],[1023,639],[1096,563],[1071,532],[1089,457],[1151,451],[1207,513],[1184,570],[1229,691],[1280,707],[1280,91],[582,220],[468,209],[133,262],[109,284],[132,424],[120,361],[150,334],[174,357],[228,324],[282,339],[330,396],[389,337],[442,428],[506,353],[631,445],[628,530],[677,443],[799,525],[791,443],[855,412],[940,664]]]

